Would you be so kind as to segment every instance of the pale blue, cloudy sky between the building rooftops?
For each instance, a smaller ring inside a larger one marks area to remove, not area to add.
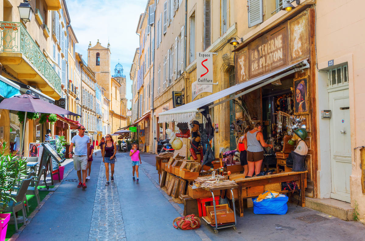
[[[95,46],[97,40],[102,46],[110,43],[111,74],[115,65],[122,64],[127,80],[127,107],[132,99],[129,76],[135,49],[139,47],[139,36],[135,33],[139,15],[146,9],[147,0],[66,0],[71,26],[78,44],[76,52],[87,62],[89,42]]]

